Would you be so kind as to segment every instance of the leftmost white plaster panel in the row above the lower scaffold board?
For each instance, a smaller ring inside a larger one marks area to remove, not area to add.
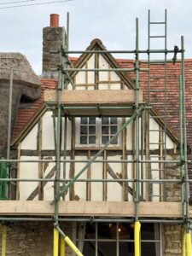
[[[20,156],[20,160],[38,160],[38,157]],[[38,163],[20,162],[20,178],[38,178]],[[20,200],[26,200],[37,186],[38,182],[20,182]]]

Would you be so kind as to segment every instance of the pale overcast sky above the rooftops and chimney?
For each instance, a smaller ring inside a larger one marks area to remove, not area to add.
[[[22,4],[51,0],[28,1]],[[11,1],[0,0],[0,8],[8,6],[3,4],[7,2]],[[26,55],[34,71],[41,74],[42,29],[49,26],[49,15],[54,13],[60,15],[60,25],[66,26],[67,11],[70,13],[69,49],[85,49],[94,38],[100,38],[107,49],[135,49],[136,17],[139,18],[140,49],[147,49],[148,9],[151,10],[152,21],[163,21],[167,9],[168,49],[173,49],[175,44],[180,47],[183,35],[185,56],[192,58],[191,0],[73,0],[67,3],[0,9],[0,49]],[[155,28],[154,33],[163,32],[160,25]],[[160,39],[156,39],[154,48],[161,49],[161,45]],[[131,55],[120,57],[133,58]],[[168,57],[172,58],[171,55]]]

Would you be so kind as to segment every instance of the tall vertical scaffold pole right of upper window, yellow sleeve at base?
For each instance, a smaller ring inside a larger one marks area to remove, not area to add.
[[[139,34],[138,34],[138,18],[136,19],[136,62],[135,62],[135,73],[136,73],[136,85],[135,85],[135,112],[137,113],[139,109],[139,55],[138,55],[138,48],[139,48]],[[140,241],[140,229],[141,224],[138,221],[138,213],[139,213],[139,116],[137,114],[136,117],[136,198],[135,198],[135,255],[140,256],[141,254],[141,241]]]

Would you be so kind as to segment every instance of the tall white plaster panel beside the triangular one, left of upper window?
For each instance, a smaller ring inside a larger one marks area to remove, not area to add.
[[[43,116],[42,127],[42,149],[54,149],[54,128],[53,128],[53,113],[47,111]]]

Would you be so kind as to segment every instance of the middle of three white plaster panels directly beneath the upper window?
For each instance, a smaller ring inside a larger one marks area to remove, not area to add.
[[[102,160],[102,157],[98,157],[96,160]],[[90,177],[92,179],[102,179],[102,163],[94,163],[90,166]],[[91,201],[102,201],[102,183],[90,183],[91,187]]]

